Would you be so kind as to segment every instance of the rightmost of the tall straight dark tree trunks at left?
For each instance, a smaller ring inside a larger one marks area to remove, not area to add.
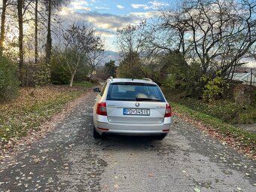
[[[51,32],[50,32],[50,18],[51,18],[51,1],[48,1],[48,21],[47,21],[47,42],[45,47],[45,53],[46,53],[46,63],[50,63],[50,56],[51,56]]]

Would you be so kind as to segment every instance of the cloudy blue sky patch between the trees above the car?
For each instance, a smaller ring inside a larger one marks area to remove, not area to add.
[[[174,1],[174,0],[173,0]],[[105,39],[105,50],[117,51],[114,38],[117,27],[138,24],[153,17],[160,8],[167,8],[171,0],[72,0],[62,8],[62,25],[67,23],[93,23]]]

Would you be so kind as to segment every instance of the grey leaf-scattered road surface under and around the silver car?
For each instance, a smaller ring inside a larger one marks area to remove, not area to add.
[[[163,141],[93,139],[95,98],[2,162],[0,191],[256,191],[255,161],[177,117]]]

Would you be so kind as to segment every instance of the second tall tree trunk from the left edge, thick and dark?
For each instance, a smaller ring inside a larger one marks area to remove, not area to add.
[[[23,0],[17,0],[18,8],[18,20],[19,20],[19,69],[20,69],[20,81],[23,83],[23,65],[24,65],[24,54],[23,54]]]

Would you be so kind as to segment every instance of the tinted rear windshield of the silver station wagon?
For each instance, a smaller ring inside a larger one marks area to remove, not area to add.
[[[107,100],[165,102],[163,94],[157,85],[134,83],[110,84]]]

